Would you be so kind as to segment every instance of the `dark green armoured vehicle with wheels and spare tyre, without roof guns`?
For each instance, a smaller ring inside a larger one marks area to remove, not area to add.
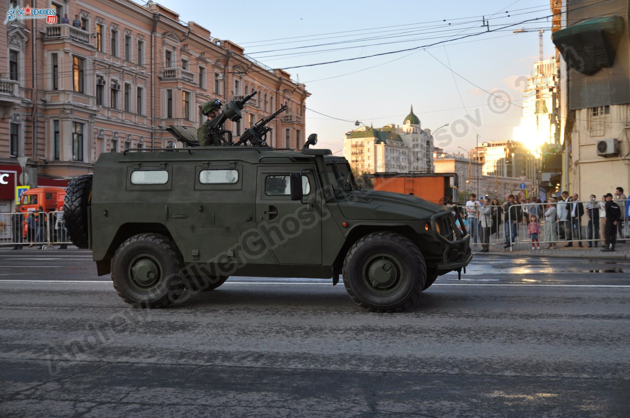
[[[195,147],[101,154],[64,212],[134,307],[164,307],[229,276],[321,278],[374,312],[410,306],[470,263],[455,206],[360,189],[329,150]]]

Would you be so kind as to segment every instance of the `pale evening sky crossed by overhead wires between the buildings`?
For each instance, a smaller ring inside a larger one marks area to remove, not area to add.
[[[360,58],[286,70],[312,94],[306,135],[317,133],[318,147],[333,152],[341,149],[345,132],[356,128],[355,120],[401,125],[411,105],[423,128],[435,131],[449,123],[434,140],[447,151],[464,152],[459,147],[469,150],[477,140],[512,139],[524,77],[538,59],[537,30],[546,30],[545,59],[554,54],[548,0],[157,3],[212,37],[238,43],[269,67]],[[541,19],[522,23],[536,18]],[[513,26],[503,28],[508,25]],[[520,28],[533,31],[513,33]]]

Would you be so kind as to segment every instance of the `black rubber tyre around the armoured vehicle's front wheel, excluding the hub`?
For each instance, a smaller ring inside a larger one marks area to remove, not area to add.
[[[394,241],[394,242],[397,242],[398,244],[401,244],[401,246],[407,247],[408,249],[411,250],[411,252],[415,252],[416,254],[414,254],[414,256],[417,256],[416,259],[420,261],[421,266],[426,271],[427,265],[425,263],[425,257],[420,252],[420,249],[418,248],[418,246],[416,246],[416,244],[414,244],[407,237],[404,237],[404,235],[396,234],[395,232],[387,232],[387,231],[372,232],[372,234],[367,234],[364,237],[361,237],[360,239],[357,240],[357,242],[355,242],[353,244],[352,247],[350,247],[350,251],[348,251],[348,254],[346,254],[345,260],[348,260],[351,257],[353,257],[354,253],[357,252],[358,249],[361,246],[363,246],[367,242],[370,242],[370,241],[373,241],[373,240],[376,240],[376,239],[384,239],[384,240]],[[346,261],[344,261],[344,263],[343,263],[343,276],[345,276],[345,277],[348,277],[350,275],[350,272],[348,271],[347,266],[348,266],[348,263]],[[343,286],[346,288],[346,291],[348,292],[348,295],[350,295],[350,298],[352,298],[352,300],[355,303],[357,303],[357,305],[359,305],[360,307],[362,307],[362,308],[364,308],[366,310],[369,310],[370,312],[379,312],[379,313],[401,312],[402,310],[405,310],[406,308],[410,307],[420,297],[420,293],[422,293],[422,289],[423,289],[424,285],[425,285],[425,283],[418,283],[416,285],[416,287],[413,289],[411,297],[408,298],[408,300],[406,300],[406,302],[404,302],[404,303],[400,303],[399,305],[391,307],[391,308],[374,308],[374,307],[370,307],[370,305],[367,305],[366,303],[362,302],[357,297],[357,295],[355,295],[354,291],[350,287],[350,281],[349,280],[348,281],[347,280],[343,281]]]

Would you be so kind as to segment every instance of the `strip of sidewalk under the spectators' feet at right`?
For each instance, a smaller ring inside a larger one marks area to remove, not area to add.
[[[583,244],[584,247],[578,247],[577,242],[573,243],[573,247],[564,247],[566,245],[565,242],[558,243],[558,249],[555,250],[546,250],[544,247],[547,244],[541,244],[540,250],[532,251],[532,246],[530,244],[515,244],[513,246],[512,252],[510,252],[509,248],[506,248],[505,251],[503,246],[491,245],[490,252],[485,252],[481,254],[501,254],[503,256],[544,256],[544,257],[559,257],[559,258],[598,258],[598,259],[616,259],[616,260],[630,260],[630,243],[626,242],[625,244],[617,243],[614,252],[602,252],[602,247],[599,246],[597,248],[588,248],[586,244]],[[481,250],[481,244],[472,244],[471,248],[473,249],[473,254],[479,254]]]

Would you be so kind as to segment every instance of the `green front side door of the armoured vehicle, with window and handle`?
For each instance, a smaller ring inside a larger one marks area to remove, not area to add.
[[[302,171],[304,202],[292,201],[289,176]],[[321,264],[321,199],[314,166],[258,167],[256,222],[278,264]]]

